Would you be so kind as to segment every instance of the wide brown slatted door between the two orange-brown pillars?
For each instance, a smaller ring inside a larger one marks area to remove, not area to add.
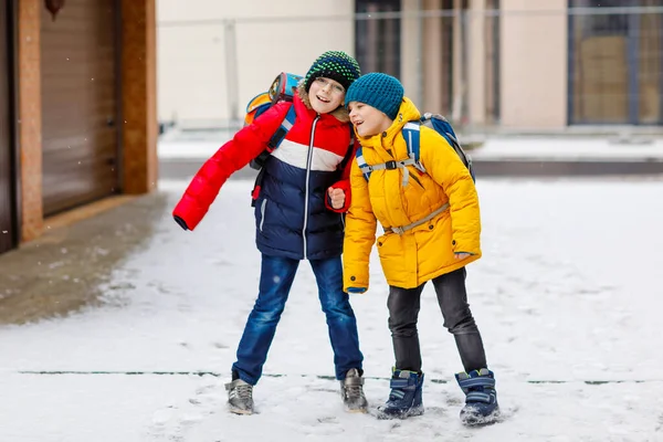
[[[41,4],[41,3],[40,3]],[[42,10],[44,214],[118,191],[116,0]]]

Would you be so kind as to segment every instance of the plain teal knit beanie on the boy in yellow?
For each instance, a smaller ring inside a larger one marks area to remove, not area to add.
[[[346,107],[351,102],[365,103],[396,119],[403,101],[403,85],[391,75],[371,72],[360,76],[346,93]]]

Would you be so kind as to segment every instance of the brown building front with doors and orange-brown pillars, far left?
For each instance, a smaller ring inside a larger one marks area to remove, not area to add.
[[[157,181],[155,0],[0,0],[0,253]]]

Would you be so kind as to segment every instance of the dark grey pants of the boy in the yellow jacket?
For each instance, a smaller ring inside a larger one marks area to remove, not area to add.
[[[424,285],[425,283],[417,288],[389,287],[389,329],[396,368],[399,370],[421,371],[417,319]],[[444,327],[455,338],[465,371],[487,368],[481,334],[467,304],[465,269],[438,276],[433,280],[433,286],[444,317]]]

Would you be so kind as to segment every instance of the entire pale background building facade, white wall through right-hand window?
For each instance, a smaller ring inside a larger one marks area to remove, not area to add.
[[[236,120],[328,49],[470,128],[663,124],[663,0],[161,0],[159,119]]]

